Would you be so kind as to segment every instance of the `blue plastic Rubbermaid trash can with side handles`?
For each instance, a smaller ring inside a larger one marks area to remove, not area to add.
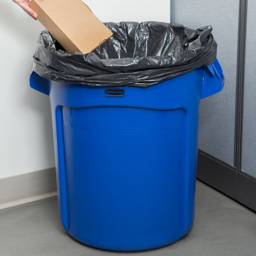
[[[213,64],[147,87],[49,81],[59,217],[81,243],[103,250],[163,247],[192,227],[201,99],[224,85]]]

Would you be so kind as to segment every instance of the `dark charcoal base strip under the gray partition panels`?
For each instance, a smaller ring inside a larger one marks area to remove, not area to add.
[[[256,211],[256,179],[200,150],[197,178]]]

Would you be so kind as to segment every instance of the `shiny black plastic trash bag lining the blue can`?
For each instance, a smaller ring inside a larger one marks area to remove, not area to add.
[[[113,36],[85,55],[68,54],[49,32],[41,32],[32,58],[33,70],[53,81],[148,87],[216,59],[211,26],[194,30],[153,21],[105,25]]]

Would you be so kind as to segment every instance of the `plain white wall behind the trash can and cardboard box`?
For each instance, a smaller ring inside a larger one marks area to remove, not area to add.
[[[102,21],[169,22],[169,0],[84,0]],[[128,4],[129,3],[129,4]],[[29,87],[44,27],[11,0],[0,8],[0,178],[55,166],[48,96]]]

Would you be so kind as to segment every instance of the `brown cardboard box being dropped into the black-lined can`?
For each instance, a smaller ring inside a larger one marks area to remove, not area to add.
[[[68,53],[86,54],[113,35],[81,0],[32,0],[30,7]]]

